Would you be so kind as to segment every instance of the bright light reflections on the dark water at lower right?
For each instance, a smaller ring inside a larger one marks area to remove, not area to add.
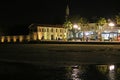
[[[120,80],[120,67],[115,66],[117,65],[69,66],[66,68],[66,77],[68,80]]]

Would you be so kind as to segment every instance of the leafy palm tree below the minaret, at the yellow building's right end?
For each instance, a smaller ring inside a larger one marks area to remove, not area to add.
[[[74,24],[77,25],[77,28],[74,28]],[[87,26],[87,19],[80,16],[73,16],[68,21],[63,24],[64,28],[67,29],[68,34],[73,35],[73,38],[76,38],[76,34],[80,32],[80,29],[85,29]],[[69,36],[69,35],[68,35]]]

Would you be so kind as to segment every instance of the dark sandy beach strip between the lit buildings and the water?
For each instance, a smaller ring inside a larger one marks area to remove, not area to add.
[[[120,63],[119,43],[69,43],[0,44],[0,61],[43,66]]]

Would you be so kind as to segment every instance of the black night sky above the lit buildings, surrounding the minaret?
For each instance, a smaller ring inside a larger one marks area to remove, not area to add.
[[[66,0],[0,1],[0,33],[27,34],[31,23],[63,24],[66,4]],[[109,18],[120,12],[118,4],[117,0],[70,0],[70,16]]]

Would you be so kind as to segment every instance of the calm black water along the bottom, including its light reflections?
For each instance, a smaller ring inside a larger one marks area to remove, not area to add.
[[[89,64],[59,67],[1,62],[0,78],[14,80],[119,80],[120,65]]]

